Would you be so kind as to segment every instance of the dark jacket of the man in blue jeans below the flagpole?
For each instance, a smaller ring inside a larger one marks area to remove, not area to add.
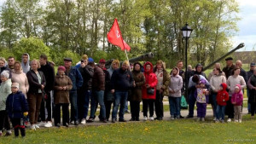
[[[121,68],[114,70],[111,77],[111,88],[115,91],[128,91],[133,83],[132,73]]]

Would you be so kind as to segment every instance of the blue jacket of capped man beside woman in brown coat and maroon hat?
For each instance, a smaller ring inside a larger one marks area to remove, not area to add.
[[[78,68],[71,66],[67,76],[71,79],[73,84],[73,88],[70,91],[75,91],[82,87],[84,80]]]

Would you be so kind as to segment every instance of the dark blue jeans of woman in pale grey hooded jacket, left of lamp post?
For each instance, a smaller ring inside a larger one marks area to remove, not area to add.
[[[181,97],[169,96],[168,99],[169,99],[169,107],[170,107],[171,116],[179,118]]]

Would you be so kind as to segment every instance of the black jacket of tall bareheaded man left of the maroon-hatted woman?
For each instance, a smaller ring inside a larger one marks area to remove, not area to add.
[[[44,72],[44,78],[46,81],[44,91],[49,92],[50,90],[53,90],[55,84],[55,69],[50,66],[49,62],[47,61],[46,65],[41,66],[38,71]]]

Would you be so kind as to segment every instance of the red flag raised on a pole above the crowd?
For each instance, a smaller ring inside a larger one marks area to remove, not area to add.
[[[122,50],[125,50],[125,44],[123,42],[123,37],[120,32],[119,23],[117,19],[114,19],[113,26],[108,32],[107,37],[109,43],[112,43],[113,45],[120,47]]]

